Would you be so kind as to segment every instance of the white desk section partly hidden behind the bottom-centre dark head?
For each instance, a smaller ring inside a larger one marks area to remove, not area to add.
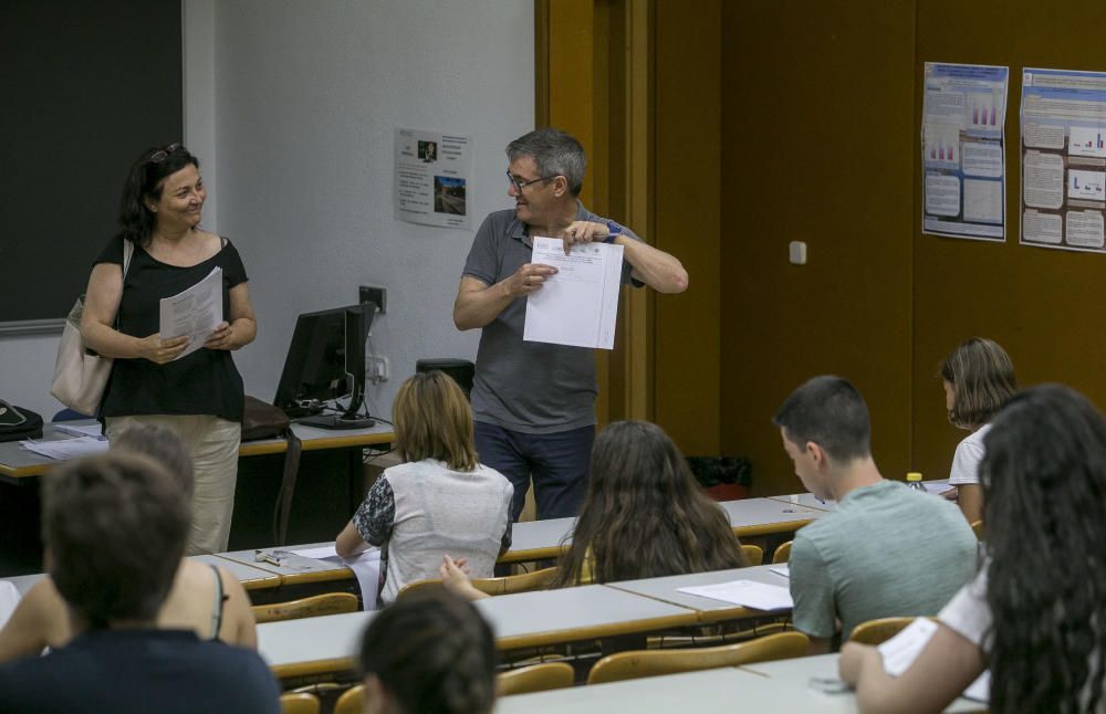
[[[501,595],[476,602],[501,650],[591,640],[693,626],[686,608],[586,585],[561,590]],[[258,626],[258,651],[283,681],[354,669],[354,652],[374,612],[327,615]]]

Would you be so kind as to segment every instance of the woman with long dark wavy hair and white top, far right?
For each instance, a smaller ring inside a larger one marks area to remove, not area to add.
[[[1011,398],[983,439],[985,566],[898,678],[878,650],[838,662],[865,712],[939,712],[985,668],[989,708],[1106,710],[1106,421],[1058,385]]]

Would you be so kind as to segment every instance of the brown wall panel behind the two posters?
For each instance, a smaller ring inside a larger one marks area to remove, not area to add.
[[[1018,244],[1021,69],[1106,71],[1106,4],[1025,0],[919,0],[915,76],[930,62],[1001,64],[1011,69],[1006,109],[1005,244],[922,235],[915,209],[915,464],[948,474],[964,432],[945,418],[938,363],[972,335],[995,339],[1022,386],[1062,381],[1106,405],[1103,298],[1106,256]],[[920,102],[920,88],[917,101]],[[919,119],[915,117],[915,136]]]

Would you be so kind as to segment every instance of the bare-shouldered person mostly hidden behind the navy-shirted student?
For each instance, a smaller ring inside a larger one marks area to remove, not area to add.
[[[186,504],[192,500],[192,462],[188,448],[168,427],[136,424],[112,440],[112,450],[145,454],[166,466]],[[20,600],[0,630],[0,662],[59,648],[73,639],[65,601],[48,575]],[[173,588],[157,613],[158,626],[194,630],[204,639],[255,648],[249,596],[223,568],[181,558]]]

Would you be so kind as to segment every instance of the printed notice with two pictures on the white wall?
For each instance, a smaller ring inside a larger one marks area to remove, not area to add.
[[[465,136],[396,129],[396,218],[470,228],[471,146]]]

